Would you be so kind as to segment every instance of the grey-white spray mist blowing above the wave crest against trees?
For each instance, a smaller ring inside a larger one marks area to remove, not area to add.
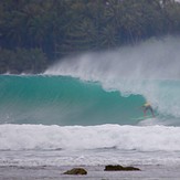
[[[103,83],[117,83],[120,78],[179,80],[179,36],[150,39],[115,51],[85,53],[64,59],[47,68],[45,74],[72,75]]]

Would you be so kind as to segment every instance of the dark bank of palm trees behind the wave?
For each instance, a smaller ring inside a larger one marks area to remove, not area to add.
[[[174,0],[1,0],[0,73],[38,73],[67,54],[179,33]]]

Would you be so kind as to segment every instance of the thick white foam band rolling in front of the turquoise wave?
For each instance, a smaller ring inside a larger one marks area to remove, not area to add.
[[[0,150],[180,150],[179,127],[0,125]]]

